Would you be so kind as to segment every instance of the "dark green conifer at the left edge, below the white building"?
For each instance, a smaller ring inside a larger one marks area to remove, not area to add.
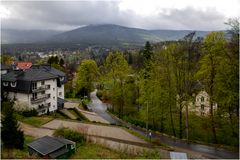
[[[14,116],[13,101],[2,102],[4,115],[2,119],[1,139],[4,147],[23,149],[24,135],[19,129],[18,122]]]

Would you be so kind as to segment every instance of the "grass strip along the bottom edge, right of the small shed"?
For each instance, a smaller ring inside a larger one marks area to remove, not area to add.
[[[99,144],[85,143],[79,146],[71,157],[71,159],[126,159],[126,158],[151,158],[159,159],[159,152],[144,152],[140,155],[127,154],[124,151],[114,151]]]

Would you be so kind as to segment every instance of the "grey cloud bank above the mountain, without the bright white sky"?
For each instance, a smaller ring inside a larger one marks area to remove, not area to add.
[[[225,17],[215,10],[166,9],[156,16],[141,17],[120,11],[119,1],[2,2],[12,16],[3,28],[70,30],[88,24],[118,24],[146,29],[224,29]],[[168,13],[168,14],[166,14]]]

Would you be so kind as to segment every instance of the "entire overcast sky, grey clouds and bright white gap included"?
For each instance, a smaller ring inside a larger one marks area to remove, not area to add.
[[[144,29],[226,29],[240,0],[1,1],[2,28],[70,30],[89,24]]]

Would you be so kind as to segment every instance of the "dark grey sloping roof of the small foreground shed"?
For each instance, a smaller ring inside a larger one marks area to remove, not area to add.
[[[64,138],[44,136],[29,143],[28,147],[45,156],[57,151],[58,149],[61,149],[67,144],[74,144],[74,142]]]

